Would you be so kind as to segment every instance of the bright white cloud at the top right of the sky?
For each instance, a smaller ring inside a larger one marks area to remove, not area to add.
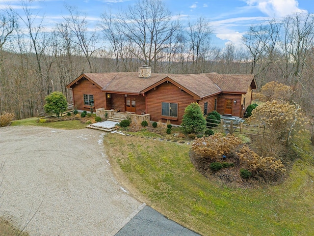
[[[296,12],[307,12],[298,7],[297,0],[244,0],[269,17],[285,17]]]

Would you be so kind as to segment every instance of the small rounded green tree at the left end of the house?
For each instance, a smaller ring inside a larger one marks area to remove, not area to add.
[[[57,117],[60,117],[60,113],[68,108],[67,99],[62,92],[52,92],[46,96],[45,100],[45,112],[55,114]]]

